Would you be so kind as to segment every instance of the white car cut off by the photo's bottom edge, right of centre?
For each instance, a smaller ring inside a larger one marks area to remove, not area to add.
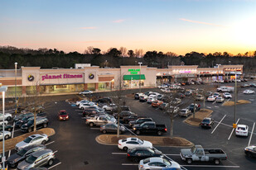
[[[181,166],[179,163],[174,161],[167,160],[166,158],[161,157],[152,157],[152,158],[145,158],[142,159],[138,163],[138,170],[147,170],[147,169],[159,169],[162,168],[170,168],[181,170]]]

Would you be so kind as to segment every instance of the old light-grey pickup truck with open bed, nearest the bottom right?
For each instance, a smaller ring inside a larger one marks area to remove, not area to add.
[[[222,149],[203,149],[201,145],[195,145],[191,149],[181,149],[181,159],[191,164],[193,161],[213,161],[216,165],[220,160],[226,160],[227,154]]]

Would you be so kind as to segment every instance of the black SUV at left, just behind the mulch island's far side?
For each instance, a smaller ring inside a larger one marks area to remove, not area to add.
[[[46,117],[36,117],[36,129],[46,128],[49,120]],[[34,120],[29,120],[26,124],[22,125],[22,132],[31,132],[34,129]]]

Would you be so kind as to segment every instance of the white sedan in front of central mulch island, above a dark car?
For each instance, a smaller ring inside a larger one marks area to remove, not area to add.
[[[134,149],[137,147],[152,149],[152,143],[147,140],[141,140],[138,138],[127,138],[118,140],[118,149],[127,151],[128,149]]]

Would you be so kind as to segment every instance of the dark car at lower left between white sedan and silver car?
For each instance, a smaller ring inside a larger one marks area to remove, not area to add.
[[[22,162],[25,158],[27,158],[31,153],[34,153],[38,150],[46,149],[46,145],[44,144],[34,144],[27,146],[17,153],[12,154],[9,158],[7,158],[7,164],[10,167],[16,167],[18,163]]]

